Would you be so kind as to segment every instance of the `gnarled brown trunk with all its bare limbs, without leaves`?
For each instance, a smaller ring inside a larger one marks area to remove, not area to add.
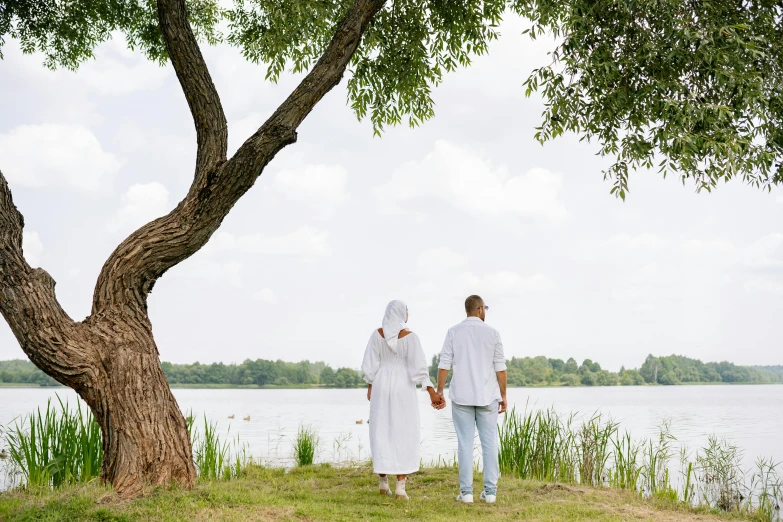
[[[231,208],[337,85],[385,0],[356,0],[323,56],[275,113],[226,158],[227,125],[217,90],[187,21],[185,0],[158,0],[163,37],[193,116],[193,184],[168,215],[141,227],[109,256],[92,314],[75,322],[54,281],[22,253],[21,214],[0,172],[0,312],[33,363],[74,388],[103,432],[102,478],[124,496],[146,485],[194,484],[190,439],[160,366],[147,296],[169,268],[206,244]]]

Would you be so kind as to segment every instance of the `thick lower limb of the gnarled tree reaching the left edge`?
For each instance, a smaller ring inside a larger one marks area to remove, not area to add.
[[[75,323],[60,306],[54,279],[24,259],[24,218],[14,205],[11,189],[0,172],[0,312],[36,366],[74,388],[86,385],[93,368],[89,344],[75,341]]]

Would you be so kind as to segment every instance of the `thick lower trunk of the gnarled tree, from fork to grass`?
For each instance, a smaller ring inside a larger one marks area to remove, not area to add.
[[[145,318],[146,319],[146,318]],[[98,329],[104,337],[94,384],[77,390],[103,432],[101,478],[124,497],[147,486],[195,484],[185,418],[160,366],[148,321],[127,318]],[[96,325],[97,326],[97,325]]]

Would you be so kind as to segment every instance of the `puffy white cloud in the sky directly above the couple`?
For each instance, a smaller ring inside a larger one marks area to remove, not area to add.
[[[511,176],[505,166],[494,167],[471,151],[439,140],[423,160],[394,171],[375,194],[390,212],[406,212],[405,203],[429,197],[475,216],[560,222],[568,217],[561,188],[561,176],[546,169]]]

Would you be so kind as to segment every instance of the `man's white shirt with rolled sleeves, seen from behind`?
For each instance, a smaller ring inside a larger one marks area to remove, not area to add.
[[[500,400],[496,372],[506,370],[500,333],[478,317],[449,329],[440,352],[441,370],[454,367],[449,399],[462,406],[488,406]]]

